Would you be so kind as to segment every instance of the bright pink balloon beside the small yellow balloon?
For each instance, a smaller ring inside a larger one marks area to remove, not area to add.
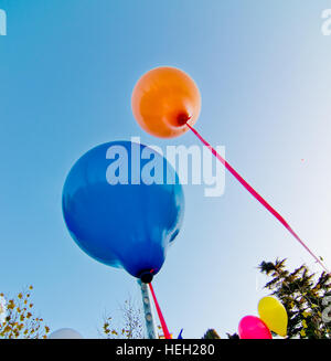
[[[241,339],[273,339],[267,325],[255,316],[242,318],[238,332]]]

